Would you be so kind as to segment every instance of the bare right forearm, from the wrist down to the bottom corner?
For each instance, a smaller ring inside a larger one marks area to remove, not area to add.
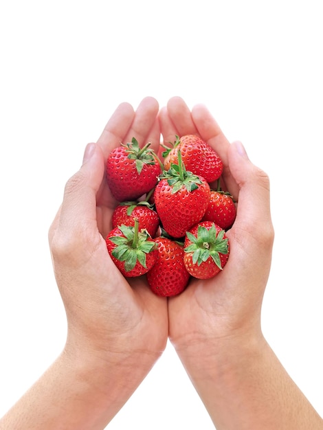
[[[216,352],[179,352],[217,430],[323,429],[265,339],[229,344]]]

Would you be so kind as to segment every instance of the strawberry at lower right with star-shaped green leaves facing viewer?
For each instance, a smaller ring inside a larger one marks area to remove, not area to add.
[[[209,279],[217,275],[227,263],[230,253],[225,231],[212,223],[203,221],[186,232],[184,264],[194,278]]]

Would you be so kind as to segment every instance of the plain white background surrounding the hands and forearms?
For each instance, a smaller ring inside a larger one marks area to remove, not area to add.
[[[120,102],[205,103],[271,178],[263,330],[323,415],[320,0],[0,5],[0,416],[65,341],[47,230]],[[172,347],[111,430],[213,429]]]

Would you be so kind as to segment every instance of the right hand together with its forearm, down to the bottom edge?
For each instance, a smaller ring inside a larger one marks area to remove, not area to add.
[[[210,280],[168,300],[169,338],[217,430],[319,430],[322,418],[292,381],[261,330],[274,228],[269,178],[230,144],[202,104],[179,97],[159,113],[164,142],[197,133],[219,153],[223,188],[238,201],[227,231],[230,258]]]

